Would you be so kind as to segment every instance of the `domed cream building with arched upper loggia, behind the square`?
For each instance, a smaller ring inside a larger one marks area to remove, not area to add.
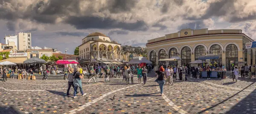
[[[111,41],[110,37],[99,32],[91,33],[82,40],[79,56],[82,60],[123,59],[121,44]]]

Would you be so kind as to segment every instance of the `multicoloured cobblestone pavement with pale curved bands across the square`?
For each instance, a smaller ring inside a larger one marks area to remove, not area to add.
[[[153,74],[146,85],[126,85],[122,78],[82,80],[86,96],[73,98],[67,92],[67,80],[16,80],[0,82],[0,114],[254,114],[256,113],[255,80],[239,77],[226,79],[190,79],[164,86]],[[91,81],[93,82],[93,81]],[[142,80],[143,83],[143,80]],[[113,96],[115,99],[113,100]]]

